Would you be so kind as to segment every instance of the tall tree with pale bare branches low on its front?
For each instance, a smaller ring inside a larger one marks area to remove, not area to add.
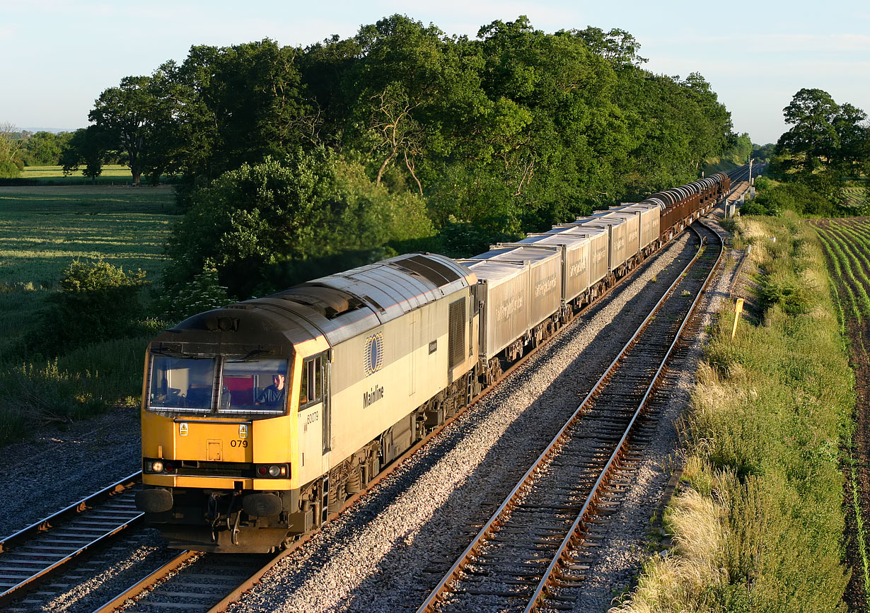
[[[457,45],[434,25],[393,15],[362,27],[344,80],[349,109],[343,144],[363,153],[376,183],[407,181],[424,194],[432,163],[461,140],[455,128],[486,103]],[[471,116],[471,117],[470,117]]]

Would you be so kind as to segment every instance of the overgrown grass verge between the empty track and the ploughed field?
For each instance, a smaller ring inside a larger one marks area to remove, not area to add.
[[[739,230],[764,312],[734,340],[733,306],[719,316],[665,514],[673,548],[646,563],[619,610],[846,610],[840,449],[853,371],[824,258],[790,214]]]

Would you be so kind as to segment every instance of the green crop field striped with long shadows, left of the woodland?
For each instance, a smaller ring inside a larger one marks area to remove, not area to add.
[[[0,187],[0,349],[76,258],[103,257],[156,281],[173,210],[170,187]]]

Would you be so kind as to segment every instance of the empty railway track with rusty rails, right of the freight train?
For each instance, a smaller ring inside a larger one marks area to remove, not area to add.
[[[632,470],[639,423],[666,403],[666,360],[693,335],[695,304],[722,243],[699,249],[656,309],[613,360],[549,447],[525,473],[432,590],[425,611],[571,610],[595,544],[595,516],[618,503],[619,473]]]

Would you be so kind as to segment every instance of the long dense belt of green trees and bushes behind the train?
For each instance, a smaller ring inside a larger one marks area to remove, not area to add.
[[[177,177],[177,288],[216,270],[246,297],[342,254],[468,255],[746,144],[703,77],[653,74],[639,47],[526,17],[450,37],[399,15],[305,48],[197,45],[104,90],[69,157],[97,171],[122,151],[134,183]]]

